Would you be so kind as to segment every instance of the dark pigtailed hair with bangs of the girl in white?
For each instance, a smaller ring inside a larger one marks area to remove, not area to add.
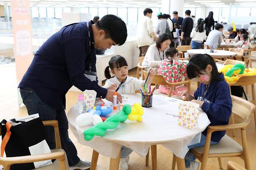
[[[120,68],[123,66],[128,66],[124,57],[119,56],[119,55],[111,57],[111,59],[109,60],[109,66],[107,66],[104,71],[105,77],[107,79],[111,78],[109,68],[114,69],[114,68]]]

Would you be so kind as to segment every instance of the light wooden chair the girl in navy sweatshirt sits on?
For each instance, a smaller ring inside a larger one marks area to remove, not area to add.
[[[240,157],[244,160],[245,168],[251,170],[245,129],[251,121],[252,114],[255,111],[255,105],[233,95],[231,95],[231,99],[233,104],[232,113],[237,114],[244,121],[233,125],[209,126],[207,128],[205,146],[190,149],[202,163],[201,170],[205,170],[208,158],[218,158],[219,167],[223,169],[221,158],[224,157]],[[242,146],[228,135],[224,135],[219,143],[210,146],[210,138],[213,132],[231,129],[241,129]]]

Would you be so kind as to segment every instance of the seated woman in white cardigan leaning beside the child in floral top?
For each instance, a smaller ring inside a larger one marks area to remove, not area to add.
[[[156,72],[160,61],[167,59],[165,51],[170,48],[171,40],[172,37],[167,33],[164,33],[158,37],[156,44],[149,46],[142,62],[142,67],[144,67],[146,71],[153,68],[154,72]]]

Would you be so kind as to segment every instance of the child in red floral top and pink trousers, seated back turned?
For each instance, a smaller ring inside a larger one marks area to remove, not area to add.
[[[168,59],[164,59],[158,66],[158,74],[162,75],[168,83],[176,83],[182,81],[182,76],[186,77],[186,62],[179,61],[179,54],[175,48],[167,49],[165,55]],[[170,87],[160,85],[158,92],[169,94]],[[175,85],[172,90],[172,96],[180,96],[178,92],[188,90],[188,87],[182,85]]]

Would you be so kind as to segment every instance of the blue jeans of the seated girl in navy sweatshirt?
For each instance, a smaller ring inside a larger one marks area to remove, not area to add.
[[[190,145],[190,146],[188,146],[188,149],[193,149],[195,147],[204,146],[205,145],[205,140],[206,140],[206,136],[202,134],[200,143]],[[217,143],[218,142],[210,141],[210,145],[214,145],[214,144],[217,144]],[[185,159],[186,168],[188,168],[189,165],[190,165],[189,162],[195,161],[196,156],[192,152],[188,151],[188,153],[186,154],[184,159]]]

